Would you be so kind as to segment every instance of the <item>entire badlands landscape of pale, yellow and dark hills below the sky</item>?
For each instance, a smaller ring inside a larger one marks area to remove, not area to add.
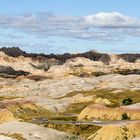
[[[0,140],[140,139],[140,54],[0,50]]]

